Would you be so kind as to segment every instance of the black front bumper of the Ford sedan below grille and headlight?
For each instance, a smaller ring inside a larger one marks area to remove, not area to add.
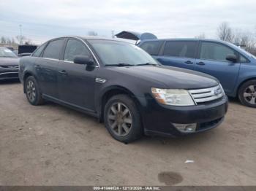
[[[216,128],[227,112],[228,99],[225,95],[217,101],[197,106],[165,106],[154,99],[148,99],[146,105],[143,110],[146,135],[182,136],[191,133],[181,132],[173,123],[197,123],[197,128],[192,133]]]

